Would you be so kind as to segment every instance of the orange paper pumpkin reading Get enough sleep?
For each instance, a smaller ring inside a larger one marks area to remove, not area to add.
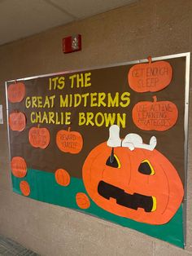
[[[130,68],[128,82],[131,89],[137,92],[163,90],[172,81],[172,66],[167,61],[136,64]]]

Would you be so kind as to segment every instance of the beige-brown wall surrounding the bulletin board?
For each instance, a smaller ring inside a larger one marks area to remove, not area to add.
[[[82,34],[82,51],[62,53],[62,38]],[[88,68],[148,55],[192,51],[192,1],[142,0],[102,15],[0,47],[0,233],[42,255],[192,255],[190,135],[187,248],[178,249],[129,228],[11,192],[4,81]],[[192,123],[190,117],[190,134]]]

